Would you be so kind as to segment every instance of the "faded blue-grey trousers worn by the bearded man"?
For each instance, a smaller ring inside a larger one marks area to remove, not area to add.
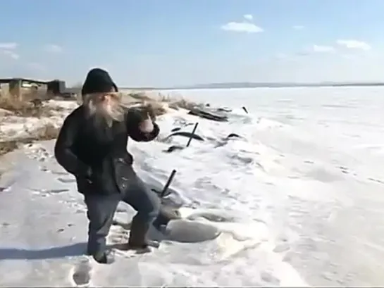
[[[144,224],[150,225],[159,215],[159,197],[139,177],[130,184],[125,195],[85,195],[89,220],[88,253],[105,251],[106,236],[111,229],[113,215],[120,201],[132,206],[137,211],[134,218],[140,219]]]

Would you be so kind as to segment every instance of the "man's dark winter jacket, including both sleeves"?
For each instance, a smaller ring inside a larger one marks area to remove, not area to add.
[[[135,177],[133,158],[126,149],[128,136],[137,142],[149,142],[159,134],[159,126],[154,123],[151,133],[141,132],[142,114],[135,108],[127,111],[123,122],[113,123],[110,141],[97,140],[88,132],[82,106],[64,120],[54,153],[58,163],[75,175],[80,193],[124,193]]]

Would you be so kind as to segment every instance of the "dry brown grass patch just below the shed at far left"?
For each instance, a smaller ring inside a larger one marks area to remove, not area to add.
[[[20,117],[49,117],[52,111],[62,111],[61,107],[48,107],[42,105],[39,99],[19,99],[8,92],[0,91],[0,108],[11,111],[14,115]]]

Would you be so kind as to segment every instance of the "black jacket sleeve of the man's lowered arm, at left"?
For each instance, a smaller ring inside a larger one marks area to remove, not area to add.
[[[74,115],[68,115],[58,134],[54,154],[56,161],[63,166],[68,173],[75,176],[89,177],[89,166],[80,161],[72,149],[78,132],[78,124]]]

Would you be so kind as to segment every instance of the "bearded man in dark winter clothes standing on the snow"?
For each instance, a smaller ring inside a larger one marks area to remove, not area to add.
[[[106,236],[119,201],[137,211],[123,246],[141,252],[150,251],[146,234],[160,209],[159,198],[137,177],[126,150],[128,136],[149,142],[159,134],[159,126],[148,113],[123,107],[117,92],[109,73],[90,70],[82,87],[82,105],[64,120],[54,151],[58,163],[75,175],[78,191],[85,196],[87,253],[99,263],[113,262]]]

